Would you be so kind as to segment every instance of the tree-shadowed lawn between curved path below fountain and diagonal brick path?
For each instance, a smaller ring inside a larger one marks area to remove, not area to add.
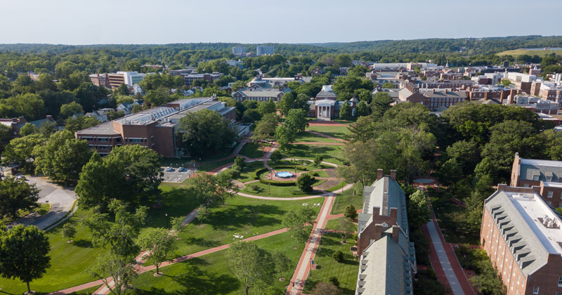
[[[283,202],[248,197],[227,199],[225,205],[211,209],[211,214],[202,225],[195,218],[185,226],[178,234],[181,240],[177,241],[178,250],[173,256],[192,254],[238,240],[233,235],[243,235],[245,239],[278,230],[283,228],[281,221],[287,211],[299,209],[303,203],[308,203],[318,212],[320,206],[313,204],[322,202],[322,197]]]

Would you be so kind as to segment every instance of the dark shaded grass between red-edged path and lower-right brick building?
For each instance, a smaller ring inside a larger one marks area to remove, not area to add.
[[[445,188],[440,190],[428,188],[427,192],[446,242],[480,244],[480,232],[469,232],[466,224],[467,211],[464,207],[451,202],[450,192]]]

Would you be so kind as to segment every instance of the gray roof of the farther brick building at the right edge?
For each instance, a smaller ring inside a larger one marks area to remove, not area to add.
[[[519,179],[532,181],[534,176],[539,176],[539,181],[562,182],[562,161],[521,159]]]

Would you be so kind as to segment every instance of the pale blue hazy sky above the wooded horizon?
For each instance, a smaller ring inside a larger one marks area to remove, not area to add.
[[[0,44],[560,35],[560,0],[0,0]]]

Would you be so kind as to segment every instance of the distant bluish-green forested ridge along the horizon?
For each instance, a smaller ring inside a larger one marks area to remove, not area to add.
[[[233,46],[244,46],[246,51],[256,51],[259,44],[236,43],[187,43],[187,44],[99,44],[99,45],[52,45],[52,44],[0,44],[0,51],[34,53],[85,53],[98,50],[132,51],[137,53],[179,52],[179,51],[220,51],[232,52]],[[275,53],[299,55],[299,53],[462,53],[462,55],[492,54],[518,48],[562,47],[562,36],[516,36],[460,39],[416,39],[379,40],[356,42],[331,42],[317,44],[263,44],[275,46]]]

